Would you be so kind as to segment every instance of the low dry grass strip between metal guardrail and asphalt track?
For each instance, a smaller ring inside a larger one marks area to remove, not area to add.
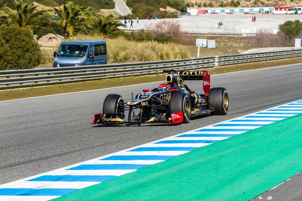
[[[273,67],[278,65],[295,64],[295,63],[302,63],[302,57],[293,58],[293,59],[282,59],[277,61],[265,61],[265,62],[250,63],[250,64],[223,66],[223,67],[210,68],[208,70],[210,74],[220,74],[225,72],[267,68],[267,67]],[[17,98],[59,94],[59,93],[67,93],[67,92],[75,92],[75,91],[85,91],[85,90],[92,90],[92,89],[107,88],[108,86],[115,87],[115,86],[163,81],[165,79],[165,76],[166,76],[165,74],[162,74],[162,75],[152,75],[152,76],[111,78],[111,79],[101,79],[96,81],[36,87],[36,88],[3,90],[0,91],[0,100],[10,100],[10,99],[17,99]]]

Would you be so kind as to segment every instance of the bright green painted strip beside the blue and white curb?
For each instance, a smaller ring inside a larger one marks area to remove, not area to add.
[[[302,115],[138,169],[58,200],[249,200],[302,170]]]

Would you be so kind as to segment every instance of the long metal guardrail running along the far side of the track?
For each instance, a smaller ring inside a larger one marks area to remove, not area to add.
[[[43,86],[102,78],[156,74],[162,70],[194,70],[209,67],[301,57],[302,50],[224,55],[140,63],[0,71],[0,89]]]

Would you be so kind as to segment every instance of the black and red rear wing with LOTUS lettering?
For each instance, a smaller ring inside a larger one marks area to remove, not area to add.
[[[176,71],[176,70],[164,70],[164,72],[168,72],[168,74],[175,73],[182,80],[203,80],[203,91],[204,95],[207,96],[210,92],[210,75],[207,70],[186,70],[186,71]]]

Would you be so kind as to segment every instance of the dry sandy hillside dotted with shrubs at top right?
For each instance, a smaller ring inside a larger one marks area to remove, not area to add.
[[[300,0],[185,0],[188,7],[302,7]],[[223,2],[223,3],[221,3]],[[222,6],[223,5],[223,6]]]

